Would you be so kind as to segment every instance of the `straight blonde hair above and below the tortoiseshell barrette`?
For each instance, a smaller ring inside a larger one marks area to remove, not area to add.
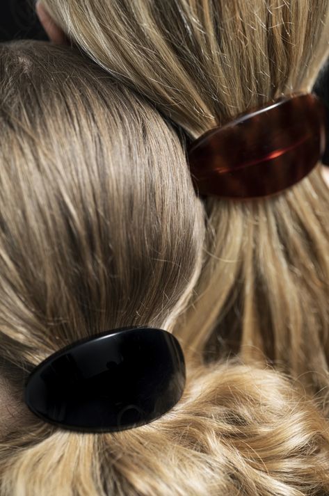
[[[308,92],[328,56],[328,0],[42,0],[72,40],[190,138]],[[186,353],[266,355],[326,395],[329,199],[319,168],[275,198],[209,198]]]

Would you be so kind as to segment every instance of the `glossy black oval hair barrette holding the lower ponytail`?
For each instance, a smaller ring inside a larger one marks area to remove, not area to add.
[[[32,371],[25,401],[45,422],[81,432],[148,424],[182,397],[185,363],[177,339],[124,328],[82,339]]]

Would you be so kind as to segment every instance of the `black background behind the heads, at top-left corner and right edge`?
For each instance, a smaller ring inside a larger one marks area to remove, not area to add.
[[[166,0],[163,0],[166,1]],[[0,41],[19,38],[47,40],[34,12],[34,0],[0,0]],[[314,91],[327,105],[327,150],[323,162],[329,164],[329,63],[319,74]]]

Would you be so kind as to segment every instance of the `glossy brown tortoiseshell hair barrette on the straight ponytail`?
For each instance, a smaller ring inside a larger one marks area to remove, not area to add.
[[[200,194],[249,199],[293,186],[325,149],[324,105],[297,95],[211,129],[192,143],[188,161]]]

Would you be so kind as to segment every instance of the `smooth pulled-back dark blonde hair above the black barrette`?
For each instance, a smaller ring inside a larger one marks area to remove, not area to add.
[[[175,131],[86,58],[61,53],[0,48],[1,335],[31,364],[78,335],[170,330],[204,237]]]

